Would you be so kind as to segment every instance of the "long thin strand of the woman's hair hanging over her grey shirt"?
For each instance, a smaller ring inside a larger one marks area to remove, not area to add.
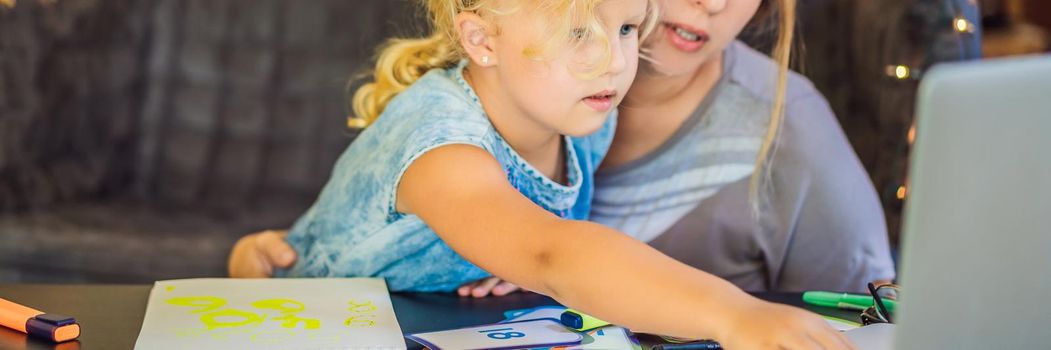
[[[778,65],[778,75],[775,85],[774,105],[770,109],[769,127],[766,136],[759,148],[756,158],[756,169],[751,172],[748,185],[748,203],[751,205],[753,214],[758,215],[762,207],[762,195],[769,189],[770,184],[770,162],[776,152],[777,140],[781,133],[781,125],[784,121],[785,90],[788,81],[788,63],[791,60],[792,36],[796,30],[796,0],[775,0],[778,2],[777,8],[771,8],[769,0],[764,0],[762,16],[777,14],[778,29],[777,42],[774,44],[771,55]],[[760,19],[762,20],[762,19]],[[753,21],[756,23],[757,21]]]

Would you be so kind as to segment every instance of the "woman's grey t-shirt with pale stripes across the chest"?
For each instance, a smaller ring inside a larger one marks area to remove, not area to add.
[[[824,97],[788,79],[785,121],[759,215],[748,181],[769,121],[777,67],[741,42],[671,139],[596,174],[592,220],[745,290],[861,291],[890,280],[883,209]]]

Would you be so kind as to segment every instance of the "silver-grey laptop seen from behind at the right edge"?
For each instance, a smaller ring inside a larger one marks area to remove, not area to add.
[[[859,346],[1051,349],[1051,56],[931,69],[909,180],[897,326]]]

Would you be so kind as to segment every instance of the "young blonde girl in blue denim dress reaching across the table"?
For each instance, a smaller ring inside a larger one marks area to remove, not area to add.
[[[850,347],[813,314],[568,220],[586,217],[607,115],[635,76],[644,0],[428,9],[435,34],[386,48],[356,94],[371,126],[292,228],[288,274],[452,290],[491,272],[636,331],[738,349]]]

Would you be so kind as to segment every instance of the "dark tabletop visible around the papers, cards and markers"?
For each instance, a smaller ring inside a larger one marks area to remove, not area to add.
[[[76,342],[54,345],[0,327],[0,349],[105,349],[135,347],[146,312],[149,285],[19,285],[0,284],[0,297],[38,310],[71,315],[83,333]],[[767,301],[796,305],[818,313],[857,321],[858,314],[803,304],[800,293],[757,293]],[[542,305],[558,305],[535,293],[471,298],[454,294],[393,293],[394,312],[403,333],[435,331],[495,323],[503,311]],[[652,338],[641,337],[648,349]],[[409,349],[419,349],[407,342]]]

